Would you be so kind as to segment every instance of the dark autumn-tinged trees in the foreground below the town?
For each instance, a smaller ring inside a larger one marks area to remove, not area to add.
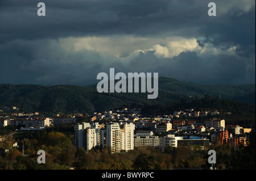
[[[217,169],[255,169],[255,132],[250,135],[247,147],[233,148],[229,145],[209,146],[201,150],[199,146],[167,147],[162,153],[153,147],[139,147],[127,153],[111,154],[108,148],[93,148],[89,151],[76,149],[72,137],[60,132],[39,131],[18,141],[19,148],[13,148],[13,137],[0,144],[0,169],[29,170],[138,170],[138,169],[209,169],[208,150],[216,151]],[[24,144],[24,155],[22,145]],[[9,151],[5,151],[5,150]],[[37,162],[38,150],[46,151],[46,163]]]

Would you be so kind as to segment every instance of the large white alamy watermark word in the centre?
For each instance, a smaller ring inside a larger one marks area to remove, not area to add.
[[[147,95],[148,99],[156,99],[158,97],[158,73],[154,73],[152,77],[151,73],[145,74],[142,72],[138,74],[135,72],[128,73],[128,76],[126,77],[125,73],[118,72],[115,74],[115,69],[110,68],[109,76],[108,74],[101,72],[98,73],[97,79],[101,79],[97,84],[97,91],[100,93],[139,92],[139,89],[141,88],[141,92],[147,91],[148,93],[152,93]],[[139,85],[139,79],[141,79],[141,85]],[[119,81],[115,83],[115,80]]]

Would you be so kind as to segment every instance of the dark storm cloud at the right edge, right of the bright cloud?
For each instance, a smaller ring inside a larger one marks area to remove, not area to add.
[[[222,49],[236,46],[239,56],[251,56],[255,53],[255,6],[250,11],[230,10],[228,14],[205,23],[200,35],[206,39],[202,43],[212,43]]]

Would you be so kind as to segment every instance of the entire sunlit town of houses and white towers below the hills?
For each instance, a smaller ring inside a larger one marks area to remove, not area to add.
[[[18,108],[13,107],[13,110]],[[230,114],[222,112],[221,114]],[[123,108],[116,111],[94,112],[92,115],[56,115],[40,117],[40,113],[11,113],[0,117],[0,127],[17,130],[41,130],[57,125],[73,124],[77,149],[110,148],[112,153],[133,150],[139,146],[153,146],[164,151],[168,146],[191,146],[207,149],[209,145],[229,144],[247,146],[251,128],[226,125],[225,120],[209,118],[220,111],[199,112],[190,108],[170,115],[144,117],[140,109]],[[204,117],[204,121],[189,119]],[[2,138],[1,138],[2,137]],[[0,142],[4,136],[0,135]]]

